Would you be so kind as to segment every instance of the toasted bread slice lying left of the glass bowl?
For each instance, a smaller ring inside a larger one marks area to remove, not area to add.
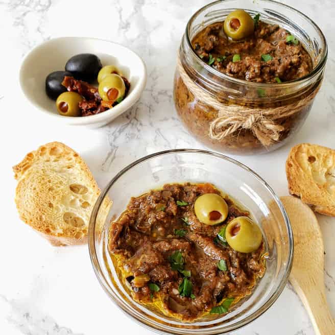
[[[54,246],[87,242],[100,190],[83,159],[63,143],[39,147],[13,167],[20,218]]]

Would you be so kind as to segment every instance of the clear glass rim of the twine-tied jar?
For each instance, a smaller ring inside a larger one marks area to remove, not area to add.
[[[197,10],[188,20],[187,25],[186,25],[186,29],[185,29],[185,37],[186,37],[187,46],[188,46],[190,52],[193,54],[194,57],[199,58],[197,53],[193,49],[192,43],[191,43],[190,38],[189,38],[190,27],[191,27],[193,21],[197,18],[198,15],[200,15],[206,9],[208,9],[212,6],[215,6],[219,3],[229,3],[231,1],[234,1],[234,0],[217,0],[217,1],[214,1],[212,3],[209,3],[205,6],[203,6],[202,8],[200,8],[199,10]],[[299,10],[297,10],[297,9],[291,7],[291,6],[282,4],[282,3],[278,2],[278,1],[275,1],[275,0],[259,0],[259,1],[264,2],[264,3],[272,3],[272,4],[275,4],[275,5],[281,6],[283,8],[290,9],[290,10],[296,12],[297,14],[301,15],[310,25],[312,25],[316,29],[316,31],[318,32],[319,36],[321,37],[321,40],[322,40],[322,43],[323,43],[323,45],[321,46],[322,54],[321,54],[320,60],[318,61],[318,64],[307,75],[305,75],[301,78],[295,79],[295,80],[291,80],[291,81],[288,81],[288,82],[282,82],[282,83],[255,83],[255,82],[251,82],[251,81],[249,82],[249,81],[246,81],[246,80],[243,80],[243,79],[230,77],[230,76],[220,72],[216,68],[208,65],[202,59],[200,59],[200,61],[202,62],[202,64],[206,68],[206,70],[209,73],[211,73],[213,76],[216,76],[220,79],[223,79],[223,80],[235,83],[235,84],[240,84],[240,85],[248,84],[248,86],[255,87],[255,88],[272,88],[272,87],[284,88],[284,87],[289,87],[291,85],[305,83],[308,80],[310,80],[311,78],[314,78],[315,76],[317,76],[320,73],[320,71],[322,71],[322,69],[324,68],[324,66],[326,64],[326,60],[327,60],[327,55],[328,55],[327,41],[326,41],[326,38],[325,38],[323,32],[319,28],[319,26],[312,19],[310,19],[308,16],[306,16],[304,13],[300,12]]]

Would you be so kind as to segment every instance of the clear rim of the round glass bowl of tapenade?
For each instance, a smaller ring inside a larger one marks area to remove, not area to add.
[[[255,312],[253,312],[251,315],[249,315],[247,318],[241,320],[235,325],[228,326],[227,329],[224,329],[224,332],[220,329],[211,329],[211,328],[206,328],[203,330],[201,334],[206,334],[206,335],[211,335],[211,334],[224,334],[224,333],[229,333],[233,330],[239,329],[250,322],[254,321],[258,317],[260,317],[262,314],[264,314],[272,305],[273,303],[277,300],[277,298],[280,296],[281,292],[285,288],[286,283],[289,280],[289,276],[292,270],[292,265],[293,265],[293,254],[294,254],[294,238],[293,238],[293,231],[290,223],[290,219],[288,214],[285,211],[285,208],[283,204],[281,203],[279,197],[274,193],[273,189],[271,186],[264,180],[262,179],[256,172],[251,170],[248,166],[245,164],[222,154],[216,153],[216,152],[211,152],[208,150],[200,150],[200,149],[171,149],[171,150],[164,150],[164,151],[159,151],[147,156],[143,156],[132,163],[128,164],[124,169],[119,171],[107,184],[107,186],[102,190],[101,194],[99,195],[97,202],[95,202],[91,216],[90,216],[90,221],[89,221],[89,227],[88,227],[88,249],[89,249],[89,255],[90,255],[90,260],[91,264],[94,270],[95,275],[98,278],[98,281],[100,282],[102,288],[104,291],[107,293],[107,295],[111,298],[114,304],[121,309],[128,317],[130,317],[132,320],[137,322],[138,324],[145,326],[146,328],[153,330],[157,333],[160,334],[184,334],[186,332],[173,332],[174,330],[182,330],[183,328],[180,327],[173,327],[169,326],[169,330],[162,330],[156,327],[155,322],[152,322],[152,320],[148,321],[148,318],[146,316],[143,316],[142,314],[136,315],[135,313],[132,312],[132,310],[127,310],[126,307],[128,307],[128,303],[124,302],[122,299],[119,299],[118,297],[114,297],[112,294],[110,294],[108,290],[109,284],[105,280],[105,276],[102,273],[98,257],[97,257],[97,250],[95,248],[95,219],[97,218],[97,214],[99,211],[99,208],[106,197],[110,187],[123,175],[125,174],[128,170],[132,169],[137,164],[140,164],[142,162],[145,162],[146,160],[150,160],[151,158],[163,156],[163,155],[169,155],[169,154],[175,154],[175,153],[196,153],[196,154],[204,154],[204,155],[209,155],[209,156],[214,156],[217,158],[221,158],[224,160],[227,160],[233,164],[238,165],[245,171],[249,172],[254,178],[256,178],[263,186],[265,186],[268,190],[268,192],[271,194],[273,197],[273,200],[277,204],[277,206],[280,209],[280,212],[282,214],[282,217],[285,222],[286,230],[288,231],[288,245],[289,245],[289,257],[288,257],[288,262],[285,268],[284,275],[276,289],[276,291],[270,296],[270,298],[262,305],[260,306]],[[191,331],[192,330],[187,330]],[[200,334],[200,333],[199,333]]]

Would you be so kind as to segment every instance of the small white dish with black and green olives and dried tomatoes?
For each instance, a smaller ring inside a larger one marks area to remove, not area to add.
[[[126,46],[94,38],[60,37],[43,42],[25,57],[19,80],[23,94],[40,116],[97,128],[139,100],[147,70]]]

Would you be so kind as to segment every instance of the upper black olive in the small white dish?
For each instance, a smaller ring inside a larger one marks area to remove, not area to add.
[[[65,64],[65,70],[70,71],[76,79],[89,83],[97,80],[101,68],[100,59],[93,54],[73,56]]]

